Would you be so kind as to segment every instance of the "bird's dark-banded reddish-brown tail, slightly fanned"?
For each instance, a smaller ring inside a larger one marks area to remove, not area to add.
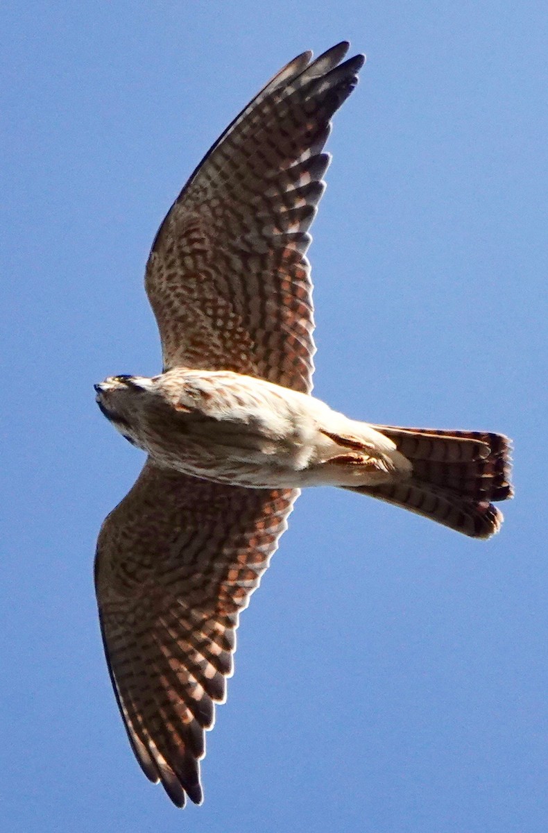
[[[502,434],[372,426],[396,443],[411,478],[381,486],[344,486],[403,506],[473,538],[489,538],[503,520],[491,501],[513,495],[511,442]]]

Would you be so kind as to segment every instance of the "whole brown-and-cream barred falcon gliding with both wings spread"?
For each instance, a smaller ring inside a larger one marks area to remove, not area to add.
[[[240,611],[302,486],[341,486],[488,538],[509,441],[371,425],[311,396],[308,228],[331,117],[365,57],[303,52],[245,107],[173,203],[147,262],[158,376],[96,385],[147,461],[97,542],[102,639],[137,760],[177,806],[232,674]]]

